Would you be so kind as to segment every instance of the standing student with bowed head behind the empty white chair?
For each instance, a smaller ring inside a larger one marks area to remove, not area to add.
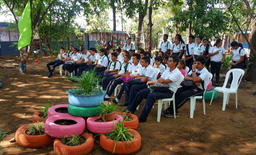
[[[243,69],[243,59],[245,52],[241,43],[233,41],[231,44],[232,50],[232,58],[231,58],[231,69]],[[230,83],[233,81],[233,74],[230,74]]]

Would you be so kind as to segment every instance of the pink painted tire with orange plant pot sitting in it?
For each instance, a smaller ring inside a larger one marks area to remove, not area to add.
[[[96,117],[88,117],[86,124],[87,129],[90,132],[97,133],[97,134],[106,134],[114,129],[114,122],[94,122],[94,120],[99,119],[101,116]],[[115,114],[115,124],[118,123],[118,121],[123,122],[123,117]]]

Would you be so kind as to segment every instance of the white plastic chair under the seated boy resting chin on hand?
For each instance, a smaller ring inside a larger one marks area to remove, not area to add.
[[[208,86],[209,82],[211,81],[212,79],[212,74],[209,73],[209,81],[206,82],[206,86]],[[206,88],[204,88],[204,93],[206,91]],[[202,96],[195,96],[195,97],[191,97],[190,98],[190,118],[193,118],[193,115],[194,115],[194,110],[196,109],[196,99],[202,99],[203,97]],[[203,109],[204,109],[204,114],[205,114],[205,101],[204,101],[204,98],[202,99],[203,101]]]

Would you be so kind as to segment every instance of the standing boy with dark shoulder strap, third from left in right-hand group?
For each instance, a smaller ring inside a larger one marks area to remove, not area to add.
[[[188,36],[188,44],[186,44],[185,46],[184,56],[185,56],[185,61],[188,68],[190,68],[191,61],[193,60],[194,48],[196,45],[194,43],[194,39],[195,39],[195,36],[193,35]]]

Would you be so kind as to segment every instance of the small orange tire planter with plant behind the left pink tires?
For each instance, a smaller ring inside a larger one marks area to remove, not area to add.
[[[44,107],[40,107],[40,110],[38,110],[36,113],[33,114],[32,122],[33,123],[36,123],[37,121],[45,122],[46,119],[48,118],[47,117],[48,109],[52,106],[53,104],[47,103],[47,104],[44,104]]]

